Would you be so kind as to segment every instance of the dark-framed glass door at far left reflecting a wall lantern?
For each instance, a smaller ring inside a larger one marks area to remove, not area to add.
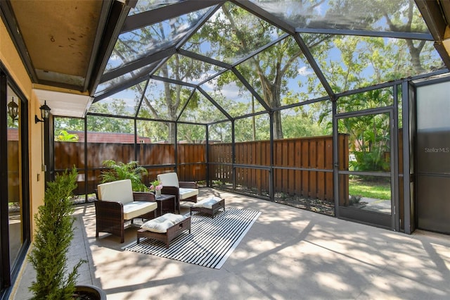
[[[27,105],[0,69],[0,298],[14,284],[30,244]]]

